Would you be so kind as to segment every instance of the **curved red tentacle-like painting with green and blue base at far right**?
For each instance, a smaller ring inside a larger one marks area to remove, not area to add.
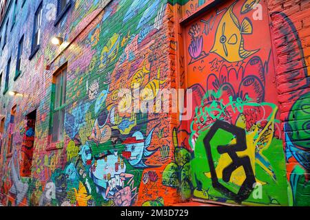
[[[287,65],[281,72],[281,91],[288,90],[285,96],[285,108],[283,108],[282,118],[285,141],[285,153],[287,162],[287,178],[291,185],[292,199],[294,206],[309,206],[307,194],[309,188],[309,70],[304,58],[302,43],[296,31],[296,27],[282,12],[275,12],[272,19],[282,22],[282,28],[278,30],[278,36],[287,36],[281,39],[284,43],[282,48],[284,54],[288,54],[285,62],[294,62],[294,65]],[[294,52],[292,53],[291,50]]]

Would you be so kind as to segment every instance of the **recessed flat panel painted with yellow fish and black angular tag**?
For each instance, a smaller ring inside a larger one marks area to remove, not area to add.
[[[185,28],[194,115],[177,133],[191,155],[194,198],[286,206],[291,200],[273,48],[270,33],[262,34],[268,19],[256,21],[249,13],[256,3],[225,3]]]

